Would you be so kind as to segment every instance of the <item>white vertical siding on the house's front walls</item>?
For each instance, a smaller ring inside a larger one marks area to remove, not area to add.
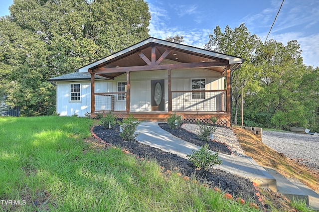
[[[170,61],[164,60],[162,62],[170,63]],[[222,90],[224,89],[224,78],[218,72],[213,72],[205,69],[187,69],[187,70],[172,70],[171,90],[172,91],[189,91],[191,90],[191,79],[205,79],[206,90]],[[151,94],[151,80],[163,79],[165,81],[165,111],[168,111],[168,86],[167,86],[167,70],[163,71],[143,71],[143,72],[131,72],[131,111],[132,112],[147,112],[152,111],[152,94]],[[95,81],[95,92],[107,93],[117,92],[117,83],[126,82],[126,74],[116,77],[114,80],[97,80]],[[81,84],[81,101],[71,102],[70,84]],[[91,87],[90,81],[81,82],[57,82],[57,106],[56,111],[60,115],[73,115],[78,114],[84,116],[86,112],[91,111]],[[110,99],[110,97],[104,97],[104,99]],[[192,103],[191,94],[185,93],[179,95],[175,99],[175,104],[180,105],[180,109],[193,106],[193,110],[196,108],[207,110],[218,110],[216,105],[207,102],[199,106],[199,104]],[[220,96],[210,94],[205,96],[205,99],[215,98],[220,102]],[[177,101],[178,100],[178,101]],[[174,104],[174,100],[173,100]],[[97,106],[97,105],[96,105]],[[110,106],[98,106],[97,109],[111,109]],[[114,96],[114,109],[126,110],[126,101],[117,100]]]

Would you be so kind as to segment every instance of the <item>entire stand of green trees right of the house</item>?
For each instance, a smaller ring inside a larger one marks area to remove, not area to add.
[[[297,40],[262,44],[244,24],[234,30],[226,26],[224,32],[217,26],[206,48],[246,59],[232,73],[234,124],[243,85],[245,125],[319,131],[319,71],[303,64]]]

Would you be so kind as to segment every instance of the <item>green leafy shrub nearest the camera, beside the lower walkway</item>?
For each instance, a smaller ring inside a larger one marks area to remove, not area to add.
[[[206,169],[208,167],[213,167],[215,165],[220,165],[222,161],[218,159],[218,153],[213,154],[208,150],[208,144],[206,143],[204,146],[198,151],[192,150],[193,154],[187,155],[188,161],[193,164],[196,168]]]

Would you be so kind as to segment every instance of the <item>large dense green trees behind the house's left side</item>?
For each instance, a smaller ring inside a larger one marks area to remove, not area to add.
[[[0,18],[0,91],[25,115],[49,114],[50,77],[106,57],[147,37],[144,0],[14,0]],[[1,93],[1,92],[0,92]]]

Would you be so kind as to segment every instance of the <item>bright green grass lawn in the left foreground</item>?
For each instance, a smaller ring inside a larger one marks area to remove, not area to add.
[[[254,211],[121,148],[83,141],[92,120],[0,117],[1,211]],[[35,206],[36,205],[36,206]]]

